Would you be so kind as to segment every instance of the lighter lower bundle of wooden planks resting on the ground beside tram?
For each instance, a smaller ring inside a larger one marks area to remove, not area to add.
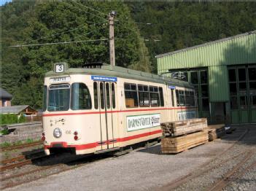
[[[191,133],[179,137],[166,137],[161,139],[161,150],[165,154],[176,154],[192,147],[208,142],[208,131]]]

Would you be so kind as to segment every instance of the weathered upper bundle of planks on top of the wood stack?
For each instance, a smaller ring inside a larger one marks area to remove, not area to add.
[[[175,122],[161,123],[163,137],[182,136],[189,133],[198,132],[207,128],[207,119],[190,119]]]

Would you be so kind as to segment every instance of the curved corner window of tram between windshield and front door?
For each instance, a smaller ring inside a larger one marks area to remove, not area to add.
[[[83,83],[73,83],[71,86],[71,109],[91,109],[90,92]]]

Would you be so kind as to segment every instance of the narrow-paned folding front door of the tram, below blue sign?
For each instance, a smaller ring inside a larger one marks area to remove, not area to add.
[[[117,113],[113,112],[116,107],[116,84],[113,82],[97,82],[99,95],[99,113],[101,120],[101,149],[116,147]]]

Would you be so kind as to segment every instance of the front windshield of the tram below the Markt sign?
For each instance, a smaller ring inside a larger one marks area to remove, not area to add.
[[[70,86],[69,85],[50,85],[48,95],[49,112],[69,110]]]

